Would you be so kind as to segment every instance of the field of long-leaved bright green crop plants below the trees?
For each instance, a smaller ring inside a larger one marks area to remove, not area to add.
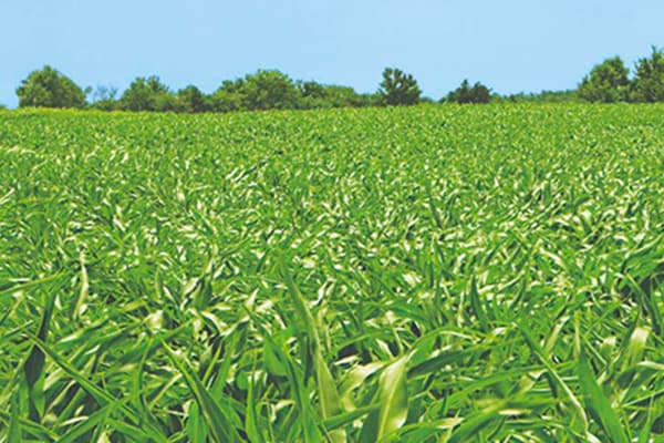
[[[662,105],[0,113],[0,441],[664,439]]]

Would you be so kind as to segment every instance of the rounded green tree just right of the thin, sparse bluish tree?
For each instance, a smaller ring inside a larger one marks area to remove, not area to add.
[[[158,76],[138,78],[122,94],[121,107],[125,111],[179,111],[180,106]]]

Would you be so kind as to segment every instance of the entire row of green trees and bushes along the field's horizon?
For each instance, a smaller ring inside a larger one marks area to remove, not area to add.
[[[226,80],[211,94],[194,85],[172,91],[158,76],[137,78],[118,95],[118,90],[82,89],[51,66],[31,72],[17,89],[20,107],[95,109],[101,111],[231,112],[257,110],[309,110],[326,107],[413,105],[433,100],[423,97],[413,75],[395,68],[383,71],[376,93],[362,94],[349,86],[315,81],[293,81],[276,71],[258,71]],[[490,101],[543,102],[664,102],[664,52],[653,48],[640,59],[631,75],[620,58],[595,65],[575,90],[543,91],[539,94],[500,96],[480,82],[461,84],[439,102],[488,103]]]

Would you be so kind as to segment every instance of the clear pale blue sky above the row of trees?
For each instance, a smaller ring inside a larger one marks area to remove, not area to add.
[[[157,74],[214,91],[258,69],[377,89],[385,66],[438,99],[574,87],[603,59],[664,47],[663,0],[0,0],[0,103],[51,64],[81,86]]]

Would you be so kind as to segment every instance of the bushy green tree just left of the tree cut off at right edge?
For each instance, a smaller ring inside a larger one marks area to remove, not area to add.
[[[623,102],[629,99],[630,70],[620,56],[595,65],[579,85],[579,96],[589,102]]]

